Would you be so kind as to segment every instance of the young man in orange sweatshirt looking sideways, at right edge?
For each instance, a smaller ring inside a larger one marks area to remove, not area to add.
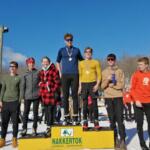
[[[147,57],[138,59],[138,70],[131,78],[131,96],[135,102],[135,120],[137,123],[140,146],[142,150],[149,150],[143,137],[143,121],[145,114],[150,138],[150,70],[149,59]]]

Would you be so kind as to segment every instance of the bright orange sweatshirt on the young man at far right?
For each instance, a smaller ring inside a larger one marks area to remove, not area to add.
[[[150,103],[150,71],[136,71],[133,74],[130,92],[134,101]]]

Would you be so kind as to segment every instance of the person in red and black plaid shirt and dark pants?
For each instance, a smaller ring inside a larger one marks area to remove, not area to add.
[[[54,122],[54,110],[57,104],[55,95],[60,89],[59,71],[48,57],[42,58],[42,70],[39,72],[39,94],[45,109],[47,123],[46,135],[51,133],[51,126]]]

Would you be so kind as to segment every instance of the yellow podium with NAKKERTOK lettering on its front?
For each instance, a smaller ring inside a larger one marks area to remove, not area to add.
[[[78,150],[113,149],[114,133],[108,128],[99,131],[83,131],[82,126],[55,126],[52,127],[52,136],[49,138],[20,138],[19,150]]]

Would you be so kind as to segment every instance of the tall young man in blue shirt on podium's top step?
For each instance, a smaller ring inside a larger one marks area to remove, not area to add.
[[[65,120],[63,125],[67,125],[69,122],[69,92],[71,88],[73,99],[73,124],[77,124],[78,119],[78,61],[82,60],[80,50],[73,46],[73,35],[65,34],[64,40],[66,46],[61,48],[57,56],[57,68],[60,73],[62,81],[63,91],[63,107]]]

